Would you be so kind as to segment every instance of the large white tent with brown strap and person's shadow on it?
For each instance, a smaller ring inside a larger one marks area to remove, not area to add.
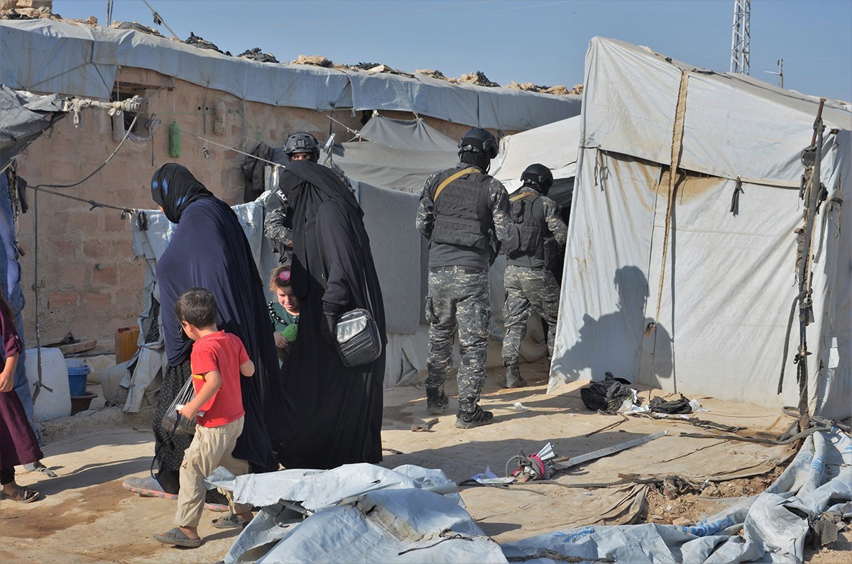
[[[612,371],[685,394],[795,405],[794,230],[818,103],[600,37],[584,84],[550,388]],[[809,400],[812,412],[848,417],[852,113],[826,104],[822,118]]]

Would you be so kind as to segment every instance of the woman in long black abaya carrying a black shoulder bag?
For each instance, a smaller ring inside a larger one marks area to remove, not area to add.
[[[299,338],[282,366],[298,432],[273,434],[286,468],[331,469],[382,460],[384,305],[360,205],[328,168],[291,161],[281,176],[291,204],[291,284],[302,315]],[[371,312],[383,352],[369,365],[343,365],[335,320],[354,308]]]

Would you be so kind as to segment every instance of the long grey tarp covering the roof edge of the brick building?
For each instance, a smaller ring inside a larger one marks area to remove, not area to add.
[[[455,124],[522,130],[579,115],[579,95],[452,84],[413,77],[281,65],[222,55],[134,30],[59,20],[0,20],[3,82],[16,89],[109,98],[118,67],[159,72],[242,100],[328,111],[416,112]]]

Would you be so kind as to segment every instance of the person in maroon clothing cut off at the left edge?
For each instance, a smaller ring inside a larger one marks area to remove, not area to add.
[[[29,504],[39,493],[14,481],[14,467],[34,463],[43,458],[36,435],[32,432],[26,411],[14,392],[14,369],[18,365],[20,346],[14,315],[9,303],[0,296],[0,336],[3,337],[3,359],[0,359],[0,499]]]

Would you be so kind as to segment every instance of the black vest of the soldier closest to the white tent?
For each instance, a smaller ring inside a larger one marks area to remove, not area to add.
[[[515,222],[511,237],[504,243],[508,264],[527,268],[556,268],[556,238],[544,219],[542,197],[537,193],[521,192],[509,198],[510,216]]]

